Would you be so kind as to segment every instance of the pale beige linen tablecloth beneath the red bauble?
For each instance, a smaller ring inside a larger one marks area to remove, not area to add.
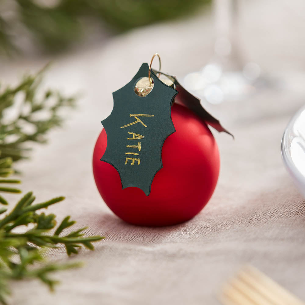
[[[253,1],[242,8],[243,54],[277,85],[242,101],[204,104],[235,140],[213,130],[221,156],[216,190],[201,213],[176,226],[143,228],[117,218],[95,187],[91,156],[100,121],[113,106],[111,93],[153,53],[178,77],[209,61],[210,15],[134,30],[53,59],[44,85],[81,98],[65,113],[64,127],[49,134],[48,145],[35,146],[31,160],[19,163],[22,189],[33,190],[38,201],[66,196],[48,212],[59,220],[71,215],[77,227],[89,226],[87,234],[106,239],[71,258],[64,249],[50,250],[49,260],[85,265],[54,274],[61,284],[53,294],[38,281],[14,283],[11,304],[218,304],[221,284],[245,263],[305,299],[305,202],[280,155],[285,126],[304,103],[305,20],[299,12],[305,7],[302,1],[289,7]],[[49,59],[2,61],[1,79],[16,82]]]

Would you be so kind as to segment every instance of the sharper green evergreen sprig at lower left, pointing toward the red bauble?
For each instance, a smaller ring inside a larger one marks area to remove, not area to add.
[[[38,278],[52,290],[57,281],[49,278],[49,273],[79,266],[79,264],[47,264],[30,268],[31,265],[43,261],[40,248],[64,245],[67,254],[70,255],[78,253],[81,246],[93,250],[92,242],[104,238],[99,235],[84,236],[86,228],[64,234],[66,228],[75,224],[75,221],[70,221],[70,216],[64,218],[51,234],[52,229],[56,227],[56,215],[37,211],[63,199],[64,197],[57,197],[33,204],[35,196],[32,192],[28,192],[13,210],[0,218],[0,302],[2,304],[6,304],[5,296],[10,293],[9,280]],[[5,212],[5,208],[0,210],[1,214]],[[32,228],[26,229],[30,224]],[[23,232],[20,230],[16,232],[17,227],[24,228]]]

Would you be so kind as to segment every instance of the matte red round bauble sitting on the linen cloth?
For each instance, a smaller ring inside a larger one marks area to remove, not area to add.
[[[146,196],[136,187],[122,190],[117,170],[100,161],[107,146],[103,129],[93,152],[96,186],[113,213],[143,226],[166,226],[187,221],[209,201],[219,174],[217,143],[206,124],[187,108],[174,104],[176,132],[163,144],[161,168]]]

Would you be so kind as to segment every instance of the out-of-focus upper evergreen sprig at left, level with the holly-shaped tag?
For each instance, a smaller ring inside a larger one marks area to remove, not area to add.
[[[42,96],[39,95],[38,87],[45,69],[36,75],[24,76],[21,83],[13,88],[0,91],[1,158],[10,157],[13,161],[27,158],[30,148],[24,144],[29,141],[45,143],[47,131],[60,126],[63,121],[58,114],[59,109],[75,104],[74,97],[64,97],[57,91],[47,90]],[[18,101],[18,97],[21,97],[21,101]],[[11,119],[6,115],[9,110],[13,112]]]

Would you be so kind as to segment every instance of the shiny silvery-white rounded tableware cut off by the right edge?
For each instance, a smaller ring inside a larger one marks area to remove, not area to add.
[[[288,123],[281,152],[287,170],[305,196],[305,106]]]

